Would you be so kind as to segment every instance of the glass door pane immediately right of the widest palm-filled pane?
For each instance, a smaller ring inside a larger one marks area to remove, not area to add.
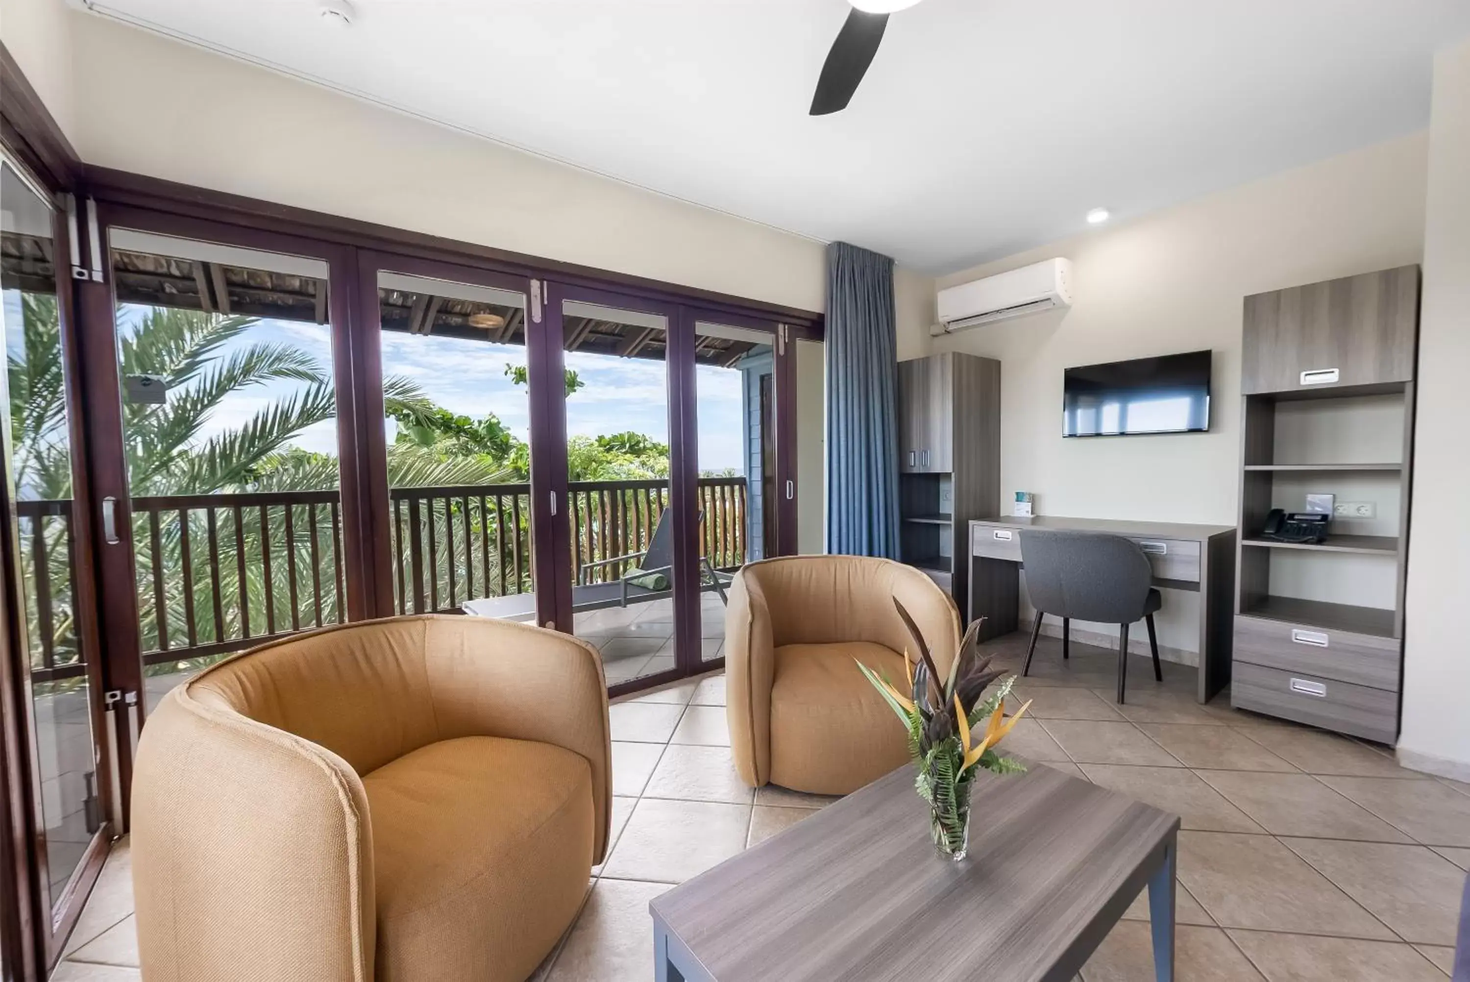
[[[535,620],[525,309],[378,273],[398,613]]]

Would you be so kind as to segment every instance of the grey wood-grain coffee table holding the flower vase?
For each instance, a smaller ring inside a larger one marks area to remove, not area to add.
[[[1179,817],[1044,764],[976,778],[970,854],[904,766],[651,904],[659,982],[1070,981],[1148,886],[1175,970]]]

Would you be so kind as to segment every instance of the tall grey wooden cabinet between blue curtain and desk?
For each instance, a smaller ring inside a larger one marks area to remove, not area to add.
[[[900,556],[961,610],[966,529],[1000,507],[1000,362],[945,353],[898,363]]]

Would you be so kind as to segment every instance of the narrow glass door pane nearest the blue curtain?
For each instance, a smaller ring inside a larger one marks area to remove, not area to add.
[[[772,335],[698,322],[700,657],[723,657],[725,589],[776,554],[776,376]]]

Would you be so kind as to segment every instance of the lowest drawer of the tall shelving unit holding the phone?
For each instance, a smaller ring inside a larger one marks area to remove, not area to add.
[[[1398,739],[1398,692],[1305,672],[1280,672],[1236,660],[1230,704],[1380,744]]]

